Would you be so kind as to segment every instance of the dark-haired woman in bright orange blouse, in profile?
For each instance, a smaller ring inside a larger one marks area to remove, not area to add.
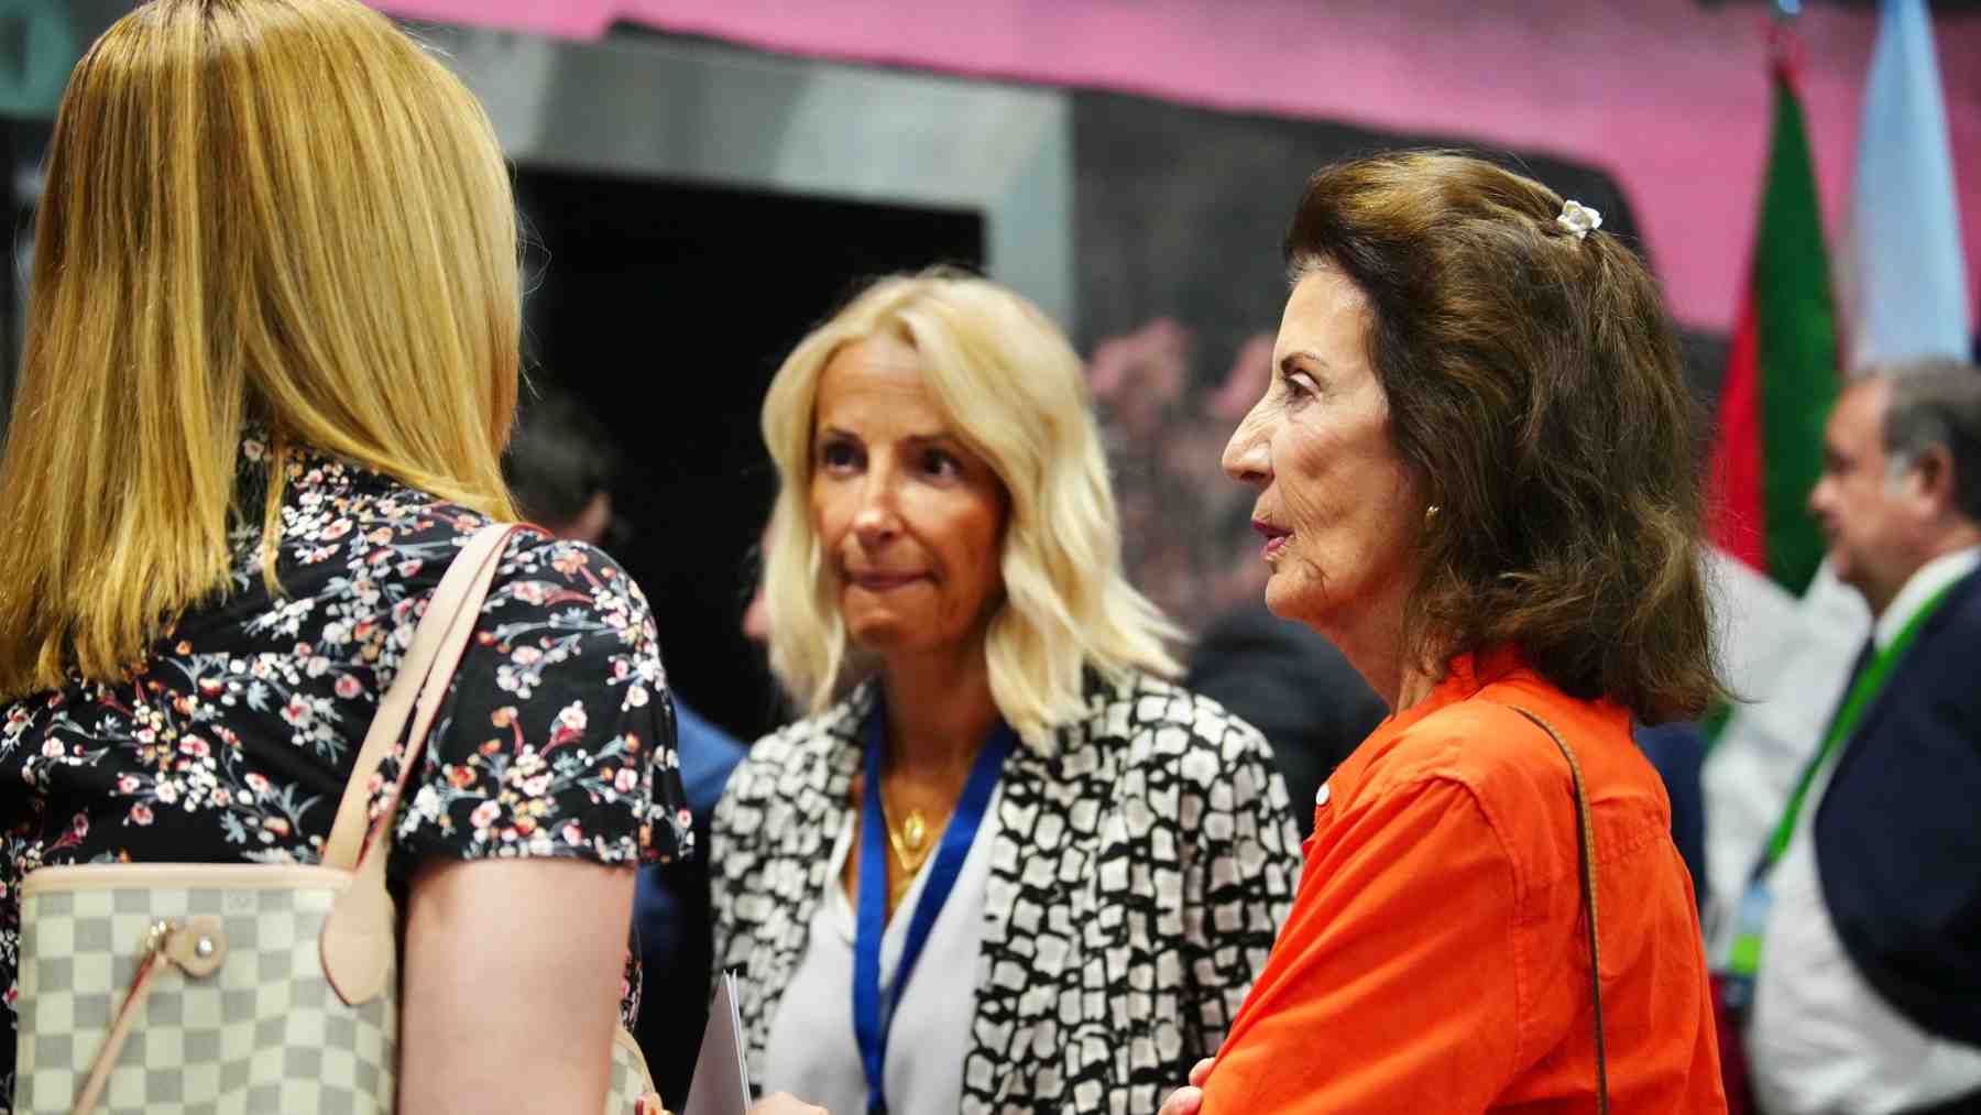
[[[1454,154],[1307,184],[1224,469],[1258,489],[1266,604],[1395,715],[1321,788],[1294,913],[1165,1115],[1725,1109],[1692,885],[1630,741],[1720,691],[1690,396],[1599,226]]]

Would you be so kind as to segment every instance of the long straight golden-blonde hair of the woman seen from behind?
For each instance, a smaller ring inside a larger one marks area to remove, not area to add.
[[[115,679],[224,592],[246,422],[275,448],[269,543],[297,444],[513,517],[507,166],[475,97],[355,0],[153,0],[105,32],[55,117],[32,293],[4,695]]]

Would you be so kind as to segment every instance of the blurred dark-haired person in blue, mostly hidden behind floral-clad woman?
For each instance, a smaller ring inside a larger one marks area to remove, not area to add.
[[[517,509],[559,539],[600,545],[614,531],[618,448],[576,398],[551,392],[527,406],[503,457]],[[640,871],[634,929],[646,994],[634,1036],[660,1085],[679,1107],[695,1071],[709,998],[709,814],[743,745],[685,701],[674,701],[676,753],[693,814],[695,852]]]

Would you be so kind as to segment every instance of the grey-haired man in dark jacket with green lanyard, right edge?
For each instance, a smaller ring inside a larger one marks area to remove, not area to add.
[[[1874,636],[1741,903],[1755,1093],[1981,1111],[1981,370],[1852,380],[1809,507]]]

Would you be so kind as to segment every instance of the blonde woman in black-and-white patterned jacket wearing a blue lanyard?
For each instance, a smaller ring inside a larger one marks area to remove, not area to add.
[[[1153,1111],[1296,883],[1266,741],[1167,677],[1080,358],[965,275],[872,285],[763,408],[771,665],[810,717],[713,822],[753,1083],[856,1111]]]

